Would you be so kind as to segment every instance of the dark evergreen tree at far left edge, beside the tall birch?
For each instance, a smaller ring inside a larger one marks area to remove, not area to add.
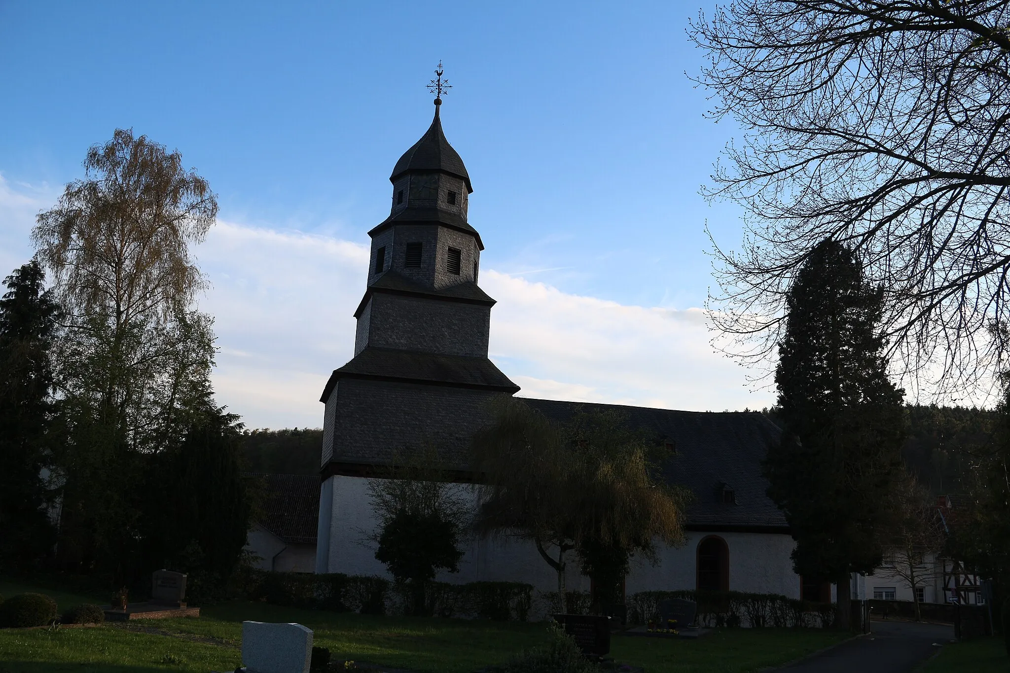
[[[21,570],[53,549],[50,351],[59,306],[34,261],[4,279],[0,299],[0,569]]]

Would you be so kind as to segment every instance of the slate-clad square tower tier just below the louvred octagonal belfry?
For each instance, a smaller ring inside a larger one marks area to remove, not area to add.
[[[355,351],[368,345],[487,357],[490,331],[491,307],[376,293],[367,324],[359,320]]]

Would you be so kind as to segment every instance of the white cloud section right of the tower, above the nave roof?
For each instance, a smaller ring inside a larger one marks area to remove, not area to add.
[[[495,271],[482,285],[498,300],[491,356],[520,395],[696,411],[772,402],[713,351],[701,309],[625,306]]]

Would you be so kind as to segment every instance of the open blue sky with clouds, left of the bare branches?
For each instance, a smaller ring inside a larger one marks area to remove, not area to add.
[[[515,336],[492,338],[506,373],[533,381],[523,386],[530,395],[763,406],[771,394],[747,392],[745,372],[711,353],[700,312],[690,313],[712,285],[706,221],[729,247],[741,234],[735,207],[698,196],[739,133],[703,117],[705,94],[686,75],[700,66],[685,36],[698,9],[0,0],[0,262],[30,254],[30,216],[82,176],[87,147],[115,127],[179,148],[219,195],[225,225],[197,250],[214,285],[204,306],[218,316],[220,395],[251,425],[311,424],[317,392],[301,398],[350,355],[343,341],[364,290],[366,232],[388,213],[397,157],[430,122],[424,85],[442,60],[453,86],[443,125],[473,180],[483,267],[499,278],[482,285],[512,297],[509,308],[496,296],[503,318],[493,329]],[[547,304],[526,304],[534,296]],[[293,307],[297,325],[276,332]],[[665,318],[645,338],[614,325],[628,320],[607,318],[614,307]],[[693,336],[664,331],[664,320],[685,316]],[[627,334],[615,336],[618,327]],[[528,348],[524,329],[539,334]],[[545,332],[559,340],[553,354],[536,350]],[[575,338],[599,351],[563,367]],[[624,351],[617,360],[614,349]],[[227,378],[242,357],[265,367],[255,381]],[[699,357],[722,373],[648,371]],[[302,380],[280,407],[270,396],[228,397],[283,388],[277,377]]]

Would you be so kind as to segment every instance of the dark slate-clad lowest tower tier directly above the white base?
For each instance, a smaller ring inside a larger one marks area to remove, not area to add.
[[[474,432],[490,423],[490,402],[506,396],[447,385],[358,378],[340,380],[333,423],[333,460],[386,463],[395,451],[430,442],[444,460],[470,465]],[[325,432],[325,431],[324,431]]]

